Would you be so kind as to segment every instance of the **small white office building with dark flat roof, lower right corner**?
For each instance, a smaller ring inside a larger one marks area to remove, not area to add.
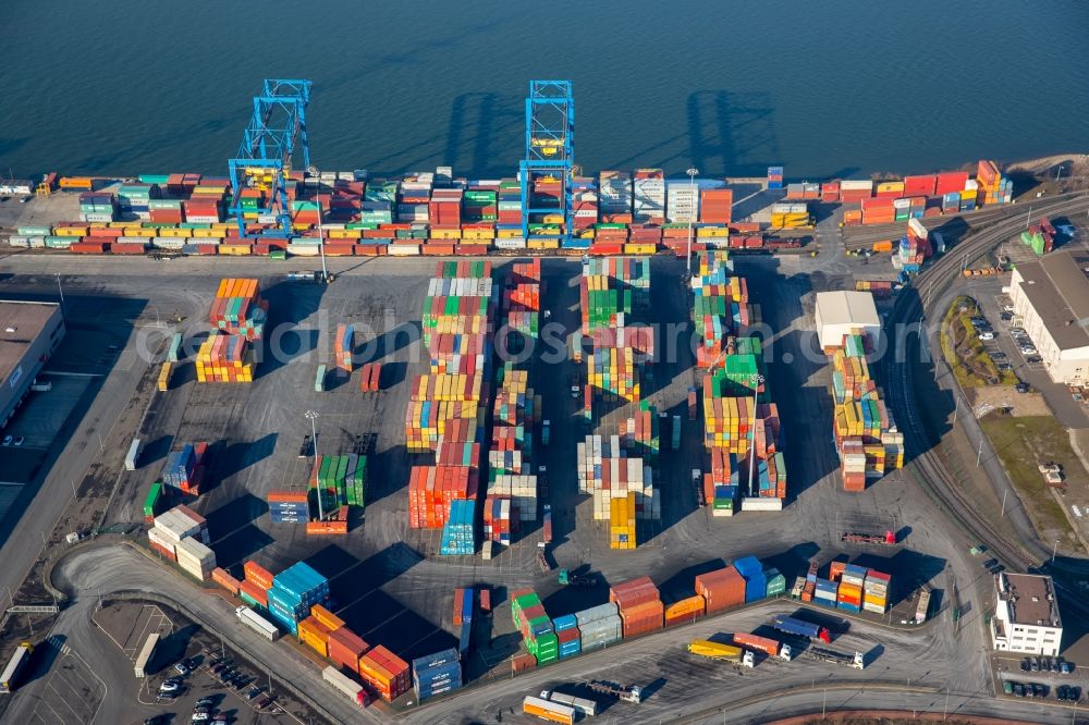
[[[994,577],[991,641],[1000,652],[1057,656],[1063,643],[1051,577],[1001,573]]]

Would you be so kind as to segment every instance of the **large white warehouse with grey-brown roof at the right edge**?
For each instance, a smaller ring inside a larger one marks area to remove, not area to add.
[[[1014,314],[1064,385],[1089,382],[1089,255],[1056,251],[1017,265],[1010,281]]]

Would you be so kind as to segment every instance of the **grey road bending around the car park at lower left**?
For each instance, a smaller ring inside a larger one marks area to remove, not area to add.
[[[209,632],[223,635],[231,647],[259,665],[265,672],[274,672],[281,680],[290,681],[317,701],[332,715],[334,722],[383,722],[380,713],[370,709],[360,711],[346,698],[321,681],[321,671],[285,644],[261,639],[235,619],[233,609],[212,594],[197,593],[193,585],[182,580],[124,544],[111,544],[79,550],[61,562],[54,570],[54,583],[71,594],[70,604],[61,611],[51,631],[52,637],[64,642],[84,661],[93,663],[97,675],[111,691],[127,687],[132,697],[106,697],[97,715],[89,723],[113,725],[130,722],[144,710],[135,704],[137,690],[131,666],[118,656],[117,646],[90,622],[98,606],[99,597],[115,591],[149,591],[172,600],[176,609],[191,616]],[[46,679],[40,678],[17,690],[7,713],[9,722],[29,723],[30,714],[47,697]],[[123,690],[122,690],[123,691]],[[147,714],[158,710],[151,709]]]

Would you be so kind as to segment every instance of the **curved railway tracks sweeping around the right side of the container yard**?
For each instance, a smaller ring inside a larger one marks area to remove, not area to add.
[[[1035,204],[1032,209],[1033,214],[1086,212],[1089,211],[1089,196],[1056,197]],[[917,294],[901,295],[890,315],[890,321],[893,325],[909,323],[921,319],[925,315],[932,315],[935,311],[934,305],[940,302],[945,290],[956,279],[959,279],[960,266],[965,261],[970,265],[990,251],[996,244],[1018,233],[1025,225],[1025,217],[1021,216],[1020,209],[1014,213],[1010,213],[1007,210],[1002,216],[974,221],[977,225],[955,246],[952,254],[934,261],[915,279],[913,286]],[[907,343],[908,349],[890,348],[880,362],[885,376],[884,379],[896,381],[896,384],[889,386],[889,391],[891,402],[897,413],[897,420],[902,422],[908,453],[914,454],[909,466],[917,470],[923,479],[923,484],[942,501],[953,518],[966,531],[991,546],[1000,561],[1018,570],[1030,570],[1039,567],[1051,554],[1048,546],[1043,545],[1035,534],[1028,540],[1013,541],[999,531],[986,517],[980,516],[972,502],[963,493],[945,464],[933,450],[935,437],[929,434],[926,423],[914,413],[916,409],[914,394],[916,369],[907,360],[913,359],[910,356],[918,352],[913,348],[919,344],[921,341],[918,336],[913,336]],[[935,367],[940,366],[942,361],[935,359],[934,365]],[[904,422],[907,425],[904,426]],[[1069,567],[1069,572],[1084,574],[1085,569]],[[1076,601],[1076,598],[1072,598],[1072,600]],[[1076,602],[1075,605],[1077,609],[1089,612],[1089,606],[1080,602]]]

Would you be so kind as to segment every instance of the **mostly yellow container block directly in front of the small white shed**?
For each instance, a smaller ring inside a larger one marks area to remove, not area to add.
[[[866,351],[861,335],[845,335],[842,347],[827,351],[832,354],[834,435],[846,491],[864,491],[868,478],[904,466],[904,434],[870,378]]]

